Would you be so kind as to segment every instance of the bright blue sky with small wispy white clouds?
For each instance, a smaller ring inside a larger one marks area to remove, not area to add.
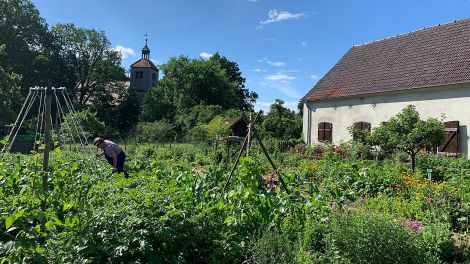
[[[239,64],[255,109],[276,99],[296,109],[354,44],[470,17],[470,0],[32,0],[52,26],[104,30],[126,69],[141,55],[210,56]]]

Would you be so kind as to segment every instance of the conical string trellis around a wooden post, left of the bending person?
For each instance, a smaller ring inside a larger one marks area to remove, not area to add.
[[[54,113],[52,108],[53,101],[55,102]],[[44,193],[47,193],[51,142],[54,142],[53,148],[57,148],[64,143],[74,145],[79,143],[82,149],[85,149],[91,155],[93,155],[93,150],[88,145],[87,136],[80,124],[80,120],[76,117],[73,102],[66,89],[64,87],[31,87],[7,140],[4,142],[1,153],[11,151],[28,114],[32,112],[35,105],[37,105],[37,115],[35,116],[34,150],[43,153],[42,190]],[[52,124],[53,114],[55,117],[54,126]],[[66,114],[70,114],[70,122],[64,122]],[[64,129],[61,129],[62,126],[64,126]],[[53,130],[54,133],[52,134]],[[98,172],[101,173],[96,160],[95,165]],[[46,209],[46,199],[41,207],[43,210]]]

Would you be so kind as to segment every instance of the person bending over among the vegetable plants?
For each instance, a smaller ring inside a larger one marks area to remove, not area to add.
[[[112,142],[111,140],[105,140],[103,138],[97,137],[93,140],[93,145],[102,149],[100,153],[96,154],[96,157],[101,157],[104,155],[108,163],[113,166],[114,171],[117,171],[119,173],[124,172],[124,177],[129,177],[129,173],[124,170],[124,161],[126,161],[126,153],[124,153],[124,150],[122,150],[122,148],[119,147],[118,144]]]

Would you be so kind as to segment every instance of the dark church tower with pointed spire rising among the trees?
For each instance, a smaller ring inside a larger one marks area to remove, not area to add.
[[[137,92],[146,93],[157,85],[159,72],[158,67],[150,60],[150,49],[147,46],[146,36],[141,59],[131,65],[131,87]]]

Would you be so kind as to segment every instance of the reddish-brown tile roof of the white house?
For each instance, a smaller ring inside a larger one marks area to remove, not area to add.
[[[302,100],[460,83],[470,83],[470,19],[353,46]]]

